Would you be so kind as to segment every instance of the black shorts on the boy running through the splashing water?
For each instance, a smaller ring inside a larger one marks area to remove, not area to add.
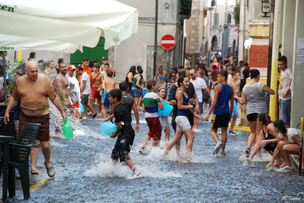
[[[112,150],[111,158],[126,161],[130,159],[129,153],[133,145],[135,135],[122,135],[119,134]]]

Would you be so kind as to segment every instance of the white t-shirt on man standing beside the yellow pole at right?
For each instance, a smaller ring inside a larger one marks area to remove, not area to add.
[[[282,97],[282,94],[287,90],[287,88],[291,84],[292,72],[289,68],[281,71],[281,76],[279,78],[279,86],[278,86],[278,94],[279,99],[281,100],[288,100],[291,99],[291,91],[286,95],[285,98]]]

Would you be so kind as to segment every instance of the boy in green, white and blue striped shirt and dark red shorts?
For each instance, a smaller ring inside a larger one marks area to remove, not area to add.
[[[142,98],[142,112],[145,113],[145,120],[147,121],[149,132],[145,136],[143,145],[139,149],[139,153],[141,154],[147,154],[145,146],[150,138],[153,138],[152,147],[159,145],[162,136],[162,127],[158,115],[158,107],[160,107],[161,110],[164,109],[162,98],[155,93],[158,88],[156,81],[150,79],[146,85],[148,93]]]

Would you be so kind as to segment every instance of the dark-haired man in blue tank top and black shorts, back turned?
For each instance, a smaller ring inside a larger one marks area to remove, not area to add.
[[[233,89],[227,84],[227,72],[221,70],[217,73],[217,81],[220,85],[214,87],[214,98],[211,107],[205,117],[209,120],[210,113],[213,110],[211,118],[211,135],[216,142],[213,154],[217,154],[220,149],[221,154],[225,154],[225,146],[227,142],[227,128],[231,121],[233,112]],[[229,107],[230,101],[230,107]],[[221,142],[218,139],[217,129],[221,128]]]

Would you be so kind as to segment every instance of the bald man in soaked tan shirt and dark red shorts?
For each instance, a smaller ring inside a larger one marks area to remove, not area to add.
[[[27,62],[26,73],[26,75],[19,77],[16,81],[14,92],[5,112],[4,122],[7,124],[7,121],[10,119],[9,112],[21,98],[19,136],[26,123],[41,124],[36,139],[40,140],[48,175],[53,177],[56,172],[50,160],[50,114],[48,98],[50,98],[52,103],[60,111],[63,119],[66,118],[66,114],[49,78],[46,75],[38,73],[38,64],[34,61]]]

